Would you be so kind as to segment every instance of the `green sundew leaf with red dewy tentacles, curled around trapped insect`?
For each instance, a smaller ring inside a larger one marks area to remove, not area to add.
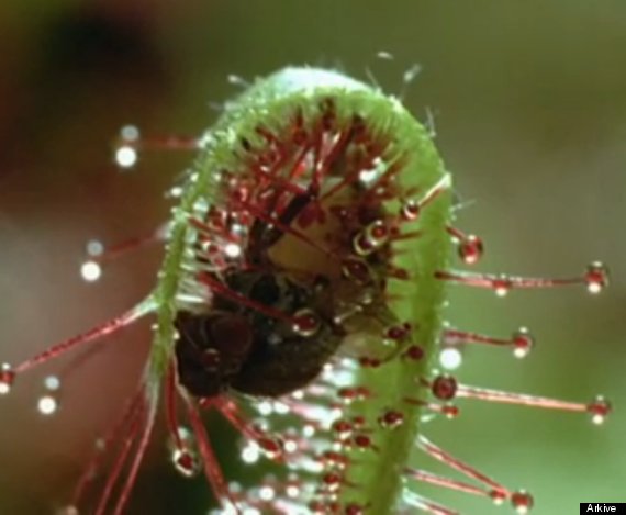
[[[500,337],[445,324],[452,284],[500,296],[568,284],[596,294],[607,270],[593,261],[578,277],[544,279],[451,268],[454,255],[476,264],[483,243],[452,225],[452,178],[432,134],[396,98],[339,72],[287,68],[227,102],[198,138],[154,141],[125,127],[119,164],[133,166],[153,145],[197,150],[169,191],[171,219],[147,239],[90,242],[81,271],[96,280],[122,250],[163,244],[154,290],[120,316],[0,371],[8,394],[37,365],[154,318],[136,393],[65,513],[124,512],[159,410],[172,467],[203,473],[219,513],[346,515],[459,513],[423,496],[423,483],[517,513],[532,508],[529,492],[491,479],[428,434],[428,419],[454,418],[460,399],[581,412],[596,424],[610,413],[602,396],[579,403],[508,393],[434,369],[454,368],[467,345],[517,358],[534,345],[524,327]],[[48,387],[43,413],[56,410],[58,380]],[[271,474],[257,484],[225,477],[202,419],[209,410],[241,434],[242,460],[273,461]],[[443,462],[449,477],[409,460],[415,451]]]

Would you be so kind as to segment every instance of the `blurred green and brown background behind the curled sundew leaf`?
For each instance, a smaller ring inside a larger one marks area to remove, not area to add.
[[[468,402],[428,436],[530,490],[537,514],[626,502],[623,1],[3,0],[0,45],[0,361],[116,314],[152,284],[158,253],[112,265],[96,284],[78,276],[89,238],[114,242],[165,220],[163,192],[189,163],[155,153],[116,173],[110,143],[121,125],[198,134],[216,115],[211,103],[238,90],[230,75],[338,67],[391,93],[405,89],[422,120],[432,113],[470,204],[457,225],[487,244],[481,270],[571,276],[591,259],[612,266],[611,289],[597,298],[583,288],[505,300],[451,289],[448,310],[460,328],[507,335],[528,325],[538,338],[522,362],[470,349],[461,380],[571,400],[605,393],[617,411],[604,427]],[[414,64],[422,72],[404,88]],[[43,370],[0,399],[0,513],[51,513],[67,499],[92,439],[135,384],[145,335],[128,329],[71,367],[54,418],[34,408]],[[155,445],[131,513],[204,513],[203,481],[185,482],[164,462]],[[511,512],[422,491],[462,513]]]

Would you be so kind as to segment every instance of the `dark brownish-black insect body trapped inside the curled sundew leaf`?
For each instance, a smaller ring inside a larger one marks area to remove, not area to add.
[[[244,287],[246,293],[233,283]],[[301,320],[301,326],[216,295],[210,314],[179,313],[176,345],[180,383],[197,396],[241,393],[278,396],[298,390],[321,371],[340,344],[342,329],[313,293],[278,275],[234,272],[226,283],[264,306]],[[248,288],[249,287],[249,288]]]

